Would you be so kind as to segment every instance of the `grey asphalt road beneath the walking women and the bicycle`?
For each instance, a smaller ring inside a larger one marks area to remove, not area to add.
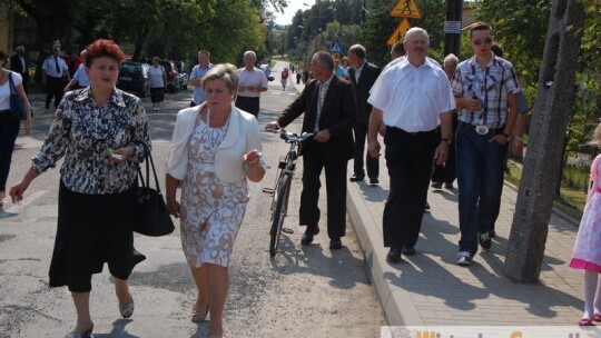
[[[280,91],[279,70],[274,68],[276,81],[262,100],[260,125],[275,118],[295,96],[289,90]],[[149,110],[154,156],[159,162],[168,150],[175,113],[187,107],[191,91],[167,95],[159,113]],[[40,107],[39,101],[33,101],[35,107]],[[145,103],[150,107],[148,99]],[[40,113],[32,135],[18,139],[9,186],[27,170],[48,130],[50,115],[37,111]],[[289,129],[299,130],[299,123]],[[265,159],[275,167],[287,147],[275,135],[262,137]],[[162,175],[162,168],[159,170]],[[75,310],[68,290],[48,288],[47,278],[56,229],[58,175],[59,170],[53,169],[40,176],[20,205],[4,201],[4,212],[0,215],[0,337],[62,337],[73,325]],[[338,251],[329,251],[325,233],[318,235],[316,243],[309,247],[298,245],[303,231],[296,226],[300,171],[294,181],[286,220],[296,232],[284,236],[282,252],[269,259],[270,199],[260,193],[260,188],[273,185],[274,175],[272,168],[263,182],[252,185],[252,200],[230,265],[226,334],[380,337],[384,317],[353,230],[347,229],[344,248]],[[325,210],[324,198],[319,202]],[[130,278],[136,312],[131,319],[120,319],[109,274],[95,276],[95,337],[205,337],[208,324],[195,325],[189,320],[195,288],[181,254],[179,230],[164,238],[137,236],[136,247],[148,257]]]

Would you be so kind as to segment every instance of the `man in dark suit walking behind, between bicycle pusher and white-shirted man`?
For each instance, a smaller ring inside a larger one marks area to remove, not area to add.
[[[372,113],[372,105],[367,103],[367,99],[370,98],[372,86],[380,76],[380,68],[367,62],[365,60],[365,47],[353,44],[348,49],[347,56],[348,62],[352,66],[348,69],[348,77],[351,78],[351,83],[353,83],[357,99],[357,120],[353,127],[355,132],[354,175],[351,177],[351,181],[362,181],[365,178],[365,170],[363,169],[363,158],[365,157],[370,185],[377,185],[380,183],[380,160],[365,152],[365,136],[367,135],[367,125],[370,115]]]

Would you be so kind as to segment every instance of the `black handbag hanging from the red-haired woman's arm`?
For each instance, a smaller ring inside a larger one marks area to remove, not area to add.
[[[140,167],[138,178],[141,182],[136,193],[136,213],[132,230],[152,237],[166,236],[175,230],[174,221],[160,193],[155,162],[148,148],[146,150],[146,179]],[[155,176],[155,188],[150,188],[150,167]]]

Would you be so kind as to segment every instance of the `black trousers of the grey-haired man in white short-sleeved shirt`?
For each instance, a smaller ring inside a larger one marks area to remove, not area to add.
[[[420,237],[432,159],[440,143],[435,130],[405,132],[386,127],[386,167],[391,177],[384,206],[384,247],[414,247]]]

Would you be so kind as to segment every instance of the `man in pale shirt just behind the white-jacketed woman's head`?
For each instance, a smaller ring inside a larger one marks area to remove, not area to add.
[[[238,69],[240,82],[236,107],[258,117],[260,93],[267,91],[267,77],[255,67],[257,54],[248,50],[244,53],[244,67]]]

